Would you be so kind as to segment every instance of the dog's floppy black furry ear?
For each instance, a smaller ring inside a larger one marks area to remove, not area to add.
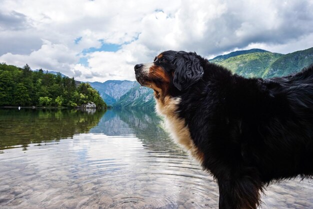
[[[174,86],[183,91],[203,76],[203,68],[195,53],[178,53],[174,58]]]

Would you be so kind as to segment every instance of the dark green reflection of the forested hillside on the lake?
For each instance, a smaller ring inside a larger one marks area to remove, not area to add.
[[[0,150],[30,143],[59,141],[87,133],[96,126],[104,110],[0,109]]]

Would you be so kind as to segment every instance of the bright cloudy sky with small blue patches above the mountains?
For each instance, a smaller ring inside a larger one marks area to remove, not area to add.
[[[166,50],[205,58],[313,47],[313,0],[1,0],[0,63],[79,81],[135,80]]]

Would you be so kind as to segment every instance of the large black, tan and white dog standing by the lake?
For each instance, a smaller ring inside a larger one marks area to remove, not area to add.
[[[313,175],[313,65],[243,78],[196,53],[134,66],[171,137],[216,179],[219,208],[256,208],[270,183]]]

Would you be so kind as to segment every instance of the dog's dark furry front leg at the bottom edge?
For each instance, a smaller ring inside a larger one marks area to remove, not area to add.
[[[251,176],[224,181],[217,179],[219,209],[256,209],[262,189],[261,182],[256,179]]]

